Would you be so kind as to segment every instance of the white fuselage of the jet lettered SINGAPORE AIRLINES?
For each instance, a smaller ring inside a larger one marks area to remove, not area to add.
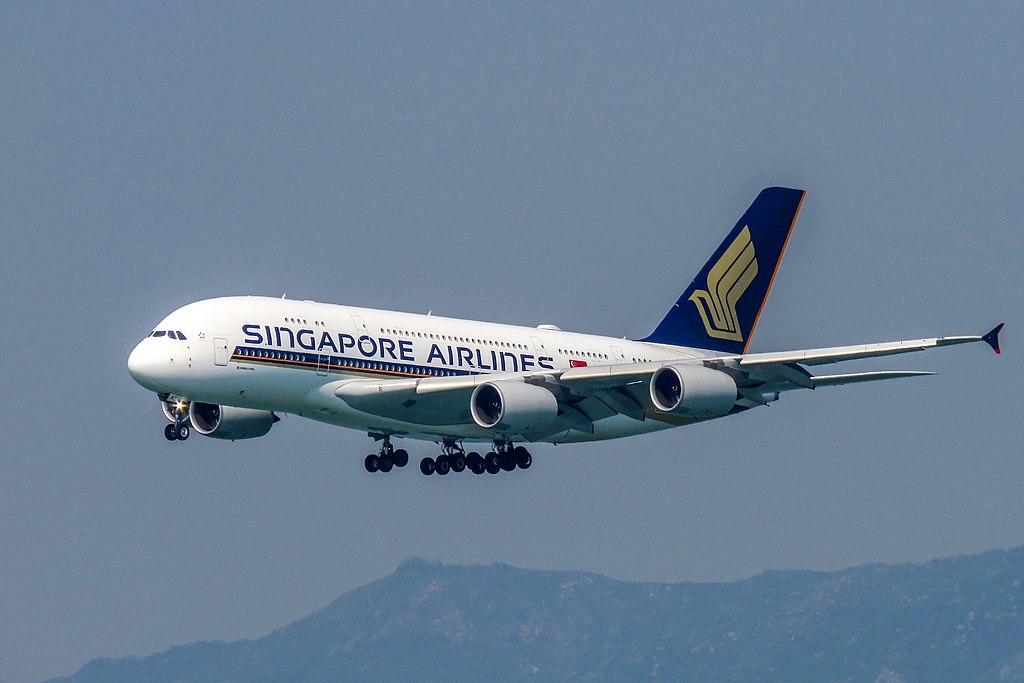
[[[578,334],[259,296],[185,305],[165,317],[132,351],[128,367],[160,394],[274,413],[291,413],[370,433],[428,440],[454,435],[487,442],[494,432],[462,422],[403,423],[354,410],[330,388],[349,379],[480,375],[629,362],[693,360],[697,349]],[[218,353],[220,357],[218,357]],[[567,443],[632,436],[676,426],[613,415],[592,432],[565,430],[545,441]]]

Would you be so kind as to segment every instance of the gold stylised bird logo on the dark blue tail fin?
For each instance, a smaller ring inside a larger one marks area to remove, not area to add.
[[[690,295],[710,337],[743,341],[736,303],[757,274],[758,259],[754,254],[751,229],[744,226],[708,271],[708,289]]]

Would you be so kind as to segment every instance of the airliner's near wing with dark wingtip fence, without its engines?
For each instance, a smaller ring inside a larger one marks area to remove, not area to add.
[[[473,391],[484,383],[522,382],[550,391],[558,404],[558,416],[543,438],[566,430],[594,431],[594,423],[614,416],[632,420],[655,419],[673,425],[696,422],[701,418],[668,415],[651,398],[651,381],[666,366],[707,368],[729,375],[736,385],[738,412],[778,398],[782,391],[815,389],[860,382],[921,377],[934,373],[918,371],[877,371],[836,375],[813,375],[805,366],[819,366],[858,358],[922,351],[939,346],[983,341],[998,353],[998,334],[1002,325],[979,336],[936,337],[856,346],[803,349],[771,353],[746,353],[731,356],[685,357],[678,360],[588,366],[529,374],[489,374],[420,379],[342,380],[322,390],[321,410],[333,400],[385,420],[423,426],[425,433],[460,436],[486,436],[470,412]],[[698,371],[707,372],[707,371]]]

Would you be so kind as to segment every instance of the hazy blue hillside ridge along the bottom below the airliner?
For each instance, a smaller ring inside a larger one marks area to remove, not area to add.
[[[61,681],[1024,681],[1024,548],[725,584],[402,563],[270,633]]]

